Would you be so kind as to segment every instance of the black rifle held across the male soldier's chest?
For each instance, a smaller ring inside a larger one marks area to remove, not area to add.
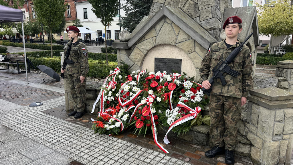
[[[211,87],[209,88],[209,90],[205,89],[204,87],[201,89],[202,92],[204,92],[205,94],[207,94],[208,96],[211,95],[211,90],[212,90],[212,86],[214,84],[214,79],[219,78],[221,80],[222,85],[226,85],[226,81],[224,79],[224,73],[227,73],[233,77],[237,77],[239,75],[239,72],[231,69],[231,67],[228,66],[229,63],[231,63],[234,58],[241,52],[244,43],[246,43],[246,41],[253,35],[253,33],[251,33],[245,40],[243,43],[239,44],[238,42],[236,43],[236,48],[229,54],[229,56],[226,58],[225,61],[221,60],[213,69],[213,76],[211,79],[209,79],[209,83],[211,84]],[[239,45],[237,47],[237,44]]]

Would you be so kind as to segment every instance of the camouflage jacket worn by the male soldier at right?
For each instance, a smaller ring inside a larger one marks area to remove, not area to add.
[[[209,52],[205,55],[205,58],[202,60],[202,66],[199,70],[201,77],[200,82],[207,80],[209,74],[212,74],[212,69],[220,62],[220,60],[225,60],[225,58],[227,58],[236,48],[235,44],[227,49],[224,42],[225,40],[214,43],[209,49]],[[224,73],[224,75],[226,74],[225,81],[227,84],[223,86],[219,78],[214,80],[211,94],[238,98],[241,98],[241,96],[247,97],[249,90],[253,89],[253,78],[251,53],[246,45],[243,46],[241,52],[234,58],[229,66],[240,74],[238,77],[233,77]]]

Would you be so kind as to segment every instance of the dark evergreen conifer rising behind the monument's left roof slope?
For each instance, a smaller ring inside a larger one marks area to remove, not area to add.
[[[125,16],[121,17],[121,22],[117,23],[131,33],[137,24],[149,15],[153,0],[126,0],[124,5],[121,4]]]

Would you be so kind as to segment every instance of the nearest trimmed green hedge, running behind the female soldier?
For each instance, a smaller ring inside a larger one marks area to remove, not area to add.
[[[29,57],[30,61],[34,66],[37,65],[46,65],[47,67],[52,68],[57,73],[60,73],[61,61],[60,57],[56,58],[35,58]],[[117,62],[109,62],[109,65],[106,65],[105,61],[102,60],[88,60],[89,71],[87,77],[91,78],[106,78],[109,75],[110,70],[114,70],[117,67]]]

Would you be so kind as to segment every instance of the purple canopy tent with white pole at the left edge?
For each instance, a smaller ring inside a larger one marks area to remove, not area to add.
[[[14,9],[8,6],[0,5],[0,23],[5,22],[21,22],[22,27],[22,36],[24,36],[23,31],[23,11],[20,9]],[[26,63],[26,52],[25,52],[25,41],[23,39],[23,49],[24,49],[24,58],[25,58],[25,74],[26,74],[26,83],[28,84],[28,69]]]

